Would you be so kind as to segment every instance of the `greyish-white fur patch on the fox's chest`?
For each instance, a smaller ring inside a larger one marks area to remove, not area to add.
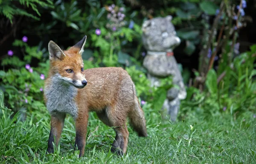
[[[47,98],[46,106],[50,114],[64,112],[70,114],[73,118],[77,118],[76,87],[52,77],[51,83],[44,89],[44,94]]]

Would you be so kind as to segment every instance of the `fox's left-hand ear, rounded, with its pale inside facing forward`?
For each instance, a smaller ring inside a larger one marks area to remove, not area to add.
[[[48,50],[49,50],[49,59],[53,60],[53,59],[61,59],[65,56],[64,52],[61,50],[61,48],[54,43],[52,40],[49,41],[48,44]]]

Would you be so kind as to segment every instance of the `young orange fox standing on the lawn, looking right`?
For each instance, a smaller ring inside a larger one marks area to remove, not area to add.
[[[137,135],[146,137],[146,120],[136,95],[134,82],[122,67],[84,69],[82,53],[87,36],[67,50],[54,41],[48,43],[49,72],[44,82],[44,102],[51,116],[47,152],[58,146],[66,115],[76,127],[74,150],[84,155],[89,112],[96,112],[104,124],[116,132],[111,152],[125,154],[129,132],[126,121]]]

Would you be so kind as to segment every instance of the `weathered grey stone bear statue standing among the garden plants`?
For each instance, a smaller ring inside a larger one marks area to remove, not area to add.
[[[180,70],[175,60],[173,49],[180,45],[175,27],[171,23],[172,16],[156,17],[143,22],[143,46],[147,54],[143,66],[148,70],[151,86],[160,86],[160,79],[172,75],[176,86],[168,90],[167,99],[163,104],[163,113],[169,115],[171,121],[176,121],[180,108],[180,100],[186,98],[186,89]],[[166,117],[166,115],[162,115]]]

